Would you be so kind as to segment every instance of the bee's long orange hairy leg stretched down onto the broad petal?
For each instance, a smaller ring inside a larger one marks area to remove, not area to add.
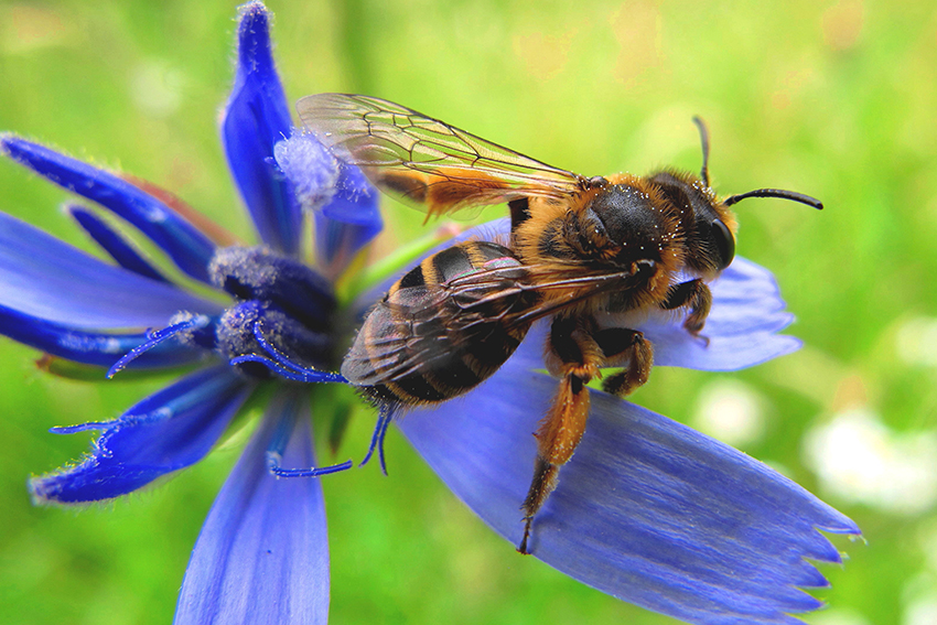
[[[524,500],[524,538],[517,550],[529,553],[527,541],[534,516],[557,486],[560,466],[569,462],[585,432],[589,417],[586,384],[599,377],[603,354],[592,336],[594,321],[588,319],[553,320],[547,342],[547,367],[560,376],[557,395],[547,416],[540,421],[537,437],[537,461],[534,479]]]

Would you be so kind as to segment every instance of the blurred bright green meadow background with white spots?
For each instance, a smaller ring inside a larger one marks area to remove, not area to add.
[[[0,1],[0,129],[173,190],[249,237],[216,118],[234,2]],[[566,2],[270,0],[288,96],[399,101],[586,175],[698,171],[709,123],[739,254],[772,269],[805,341],[736,374],[657,368],[634,401],[789,475],[850,515],[817,625],[937,623],[937,7],[883,0]],[[85,247],[67,198],[0,162],[0,209]],[[500,215],[489,208],[484,217]],[[426,231],[389,207],[385,249]],[[34,508],[25,481],[79,459],[57,424],[118,416],[165,380],[42,374],[0,338],[0,621],[168,623],[191,548],[238,455],[142,494]],[[340,457],[360,457],[362,409]],[[489,531],[396,433],[324,481],[333,623],[674,621],[568,579]]]

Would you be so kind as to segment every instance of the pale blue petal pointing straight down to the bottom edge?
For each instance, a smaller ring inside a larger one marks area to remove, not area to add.
[[[329,619],[329,541],[317,478],[277,478],[267,455],[284,428],[284,466],[314,466],[305,390],[274,397],[208,513],[182,584],[176,625]],[[278,451],[278,450],[274,450]]]

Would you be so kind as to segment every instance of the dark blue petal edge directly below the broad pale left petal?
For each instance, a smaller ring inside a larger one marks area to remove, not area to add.
[[[146,333],[86,332],[30,316],[3,305],[0,305],[0,334],[53,356],[99,367],[110,367],[121,356],[148,341]],[[170,340],[139,356],[130,364],[130,368],[174,367],[197,362],[203,357],[204,349],[179,340]]]

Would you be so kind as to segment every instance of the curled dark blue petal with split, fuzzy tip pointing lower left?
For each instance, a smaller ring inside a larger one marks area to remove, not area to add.
[[[190,374],[105,423],[57,433],[104,430],[77,465],[30,481],[36,504],[77,504],[126,495],[198,462],[250,394],[227,365]]]

